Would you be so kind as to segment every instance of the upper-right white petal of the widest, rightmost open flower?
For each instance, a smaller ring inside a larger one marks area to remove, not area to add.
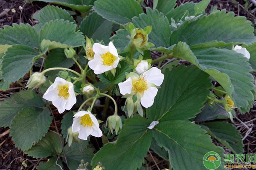
[[[147,82],[154,83],[157,86],[160,86],[163,83],[164,75],[161,73],[161,70],[152,67],[148,71],[143,73],[143,77]]]

